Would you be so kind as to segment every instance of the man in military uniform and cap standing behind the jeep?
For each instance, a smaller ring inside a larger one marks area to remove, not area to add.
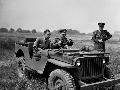
[[[99,30],[94,31],[92,37],[94,49],[101,52],[105,52],[105,41],[112,37],[107,30],[103,30],[104,25],[105,23],[98,23]]]

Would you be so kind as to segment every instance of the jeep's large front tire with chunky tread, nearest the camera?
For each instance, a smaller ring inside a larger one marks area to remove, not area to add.
[[[75,81],[70,73],[65,70],[56,69],[50,73],[48,78],[49,90],[76,90]]]

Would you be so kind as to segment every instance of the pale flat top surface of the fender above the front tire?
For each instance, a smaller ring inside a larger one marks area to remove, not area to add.
[[[63,62],[63,61],[58,61],[58,60],[55,60],[55,59],[48,59],[48,62],[50,62],[50,63],[52,63],[52,64],[55,64],[55,65],[57,65],[57,66],[60,66],[60,67],[75,68],[74,65],[65,63],[65,62]]]

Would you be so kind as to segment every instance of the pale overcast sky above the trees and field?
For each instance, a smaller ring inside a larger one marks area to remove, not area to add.
[[[120,0],[0,0],[0,27],[120,31]]]

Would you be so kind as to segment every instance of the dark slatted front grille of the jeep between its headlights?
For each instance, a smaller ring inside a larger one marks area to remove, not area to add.
[[[102,74],[103,60],[100,57],[85,57],[81,61],[82,77],[94,77]]]

